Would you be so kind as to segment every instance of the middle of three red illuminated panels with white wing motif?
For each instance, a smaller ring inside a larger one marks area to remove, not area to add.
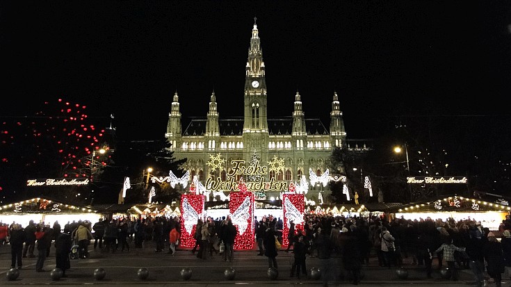
[[[241,180],[239,187],[244,185],[245,183]],[[254,246],[254,194],[252,192],[231,192],[229,197],[229,213],[232,223],[238,231],[234,238],[234,249],[252,249]]]

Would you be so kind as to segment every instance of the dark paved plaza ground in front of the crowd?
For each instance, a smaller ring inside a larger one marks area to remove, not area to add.
[[[55,268],[54,247],[51,247],[51,254],[44,263],[44,270],[47,272],[35,272],[35,261],[37,258],[24,258],[23,268],[20,270],[19,277],[13,281],[7,279],[6,274],[10,268],[10,246],[0,247],[0,280],[1,286],[11,285],[106,285],[106,286],[125,286],[129,284],[149,284],[151,286],[168,285],[186,285],[186,286],[210,286],[210,285],[250,285],[250,286],[321,286],[321,279],[315,280],[302,276],[300,279],[290,277],[291,252],[279,252],[277,256],[279,275],[277,279],[272,280],[268,277],[268,260],[266,256],[257,256],[255,250],[238,251],[234,253],[234,261],[227,263],[222,261],[222,256],[213,254],[213,257],[207,260],[197,259],[190,250],[179,249],[175,256],[163,252],[154,252],[154,246],[149,244],[145,248],[136,249],[131,247],[130,251],[115,254],[104,253],[101,250],[90,248],[90,257],[88,259],[71,260],[71,269],[67,270],[67,277],[58,280],[51,279],[51,270]],[[37,251],[35,251],[37,254]],[[332,260],[334,270],[336,267],[335,259]],[[378,265],[378,259],[375,254],[371,256],[368,265],[363,267],[363,277],[359,286],[431,286],[431,284],[441,284],[448,286],[467,286],[473,285],[473,276],[470,270],[460,270],[459,281],[449,281],[441,277],[437,268],[437,261],[433,263],[434,273],[432,279],[427,279],[425,269],[421,265],[413,265],[412,259],[404,259],[403,267],[408,272],[406,279],[400,279],[396,274],[396,268],[384,268]],[[320,262],[317,258],[307,257],[307,270],[319,268]],[[96,280],[94,271],[97,268],[104,268],[106,276],[102,280]],[[138,277],[138,270],[147,268],[149,276],[147,279]],[[192,277],[184,280],[181,277],[181,270],[190,268]],[[225,277],[225,270],[234,268],[235,276],[233,280]],[[332,275],[332,286],[352,285],[348,279],[335,280],[338,272]],[[503,279],[503,286],[509,285],[509,279]]]

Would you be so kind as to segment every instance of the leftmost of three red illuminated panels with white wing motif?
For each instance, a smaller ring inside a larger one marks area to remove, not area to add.
[[[195,246],[197,220],[204,213],[204,195],[181,195],[181,247]]]

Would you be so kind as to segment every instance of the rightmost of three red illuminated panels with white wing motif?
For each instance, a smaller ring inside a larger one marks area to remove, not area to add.
[[[282,245],[288,246],[289,220],[295,223],[295,234],[304,228],[305,198],[304,195],[282,195],[282,213],[284,214],[284,229],[282,231]]]

